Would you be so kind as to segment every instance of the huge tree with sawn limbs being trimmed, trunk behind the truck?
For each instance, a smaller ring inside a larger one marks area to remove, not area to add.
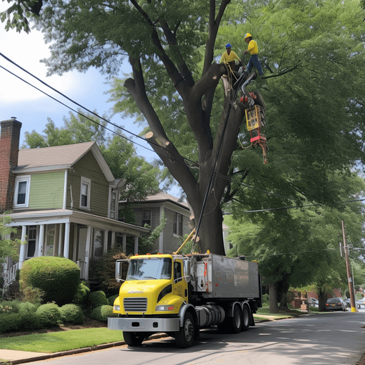
[[[339,196],[328,172],[345,174],[363,158],[365,82],[352,75],[364,64],[358,5],[47,0],[37,27],[53,42],[44,60],[50,73],[97,67],[117,75],[129,61],[132,76],[121,90],[115,81],[114,96],[123,113],[146,120],[149,143],[184,189],[196,220],[203,216],[201,249],[224,253],[222,197],[234,198],[243,180],[298,203],[334,204]],[[238,136],[249,141],[241,126],[248,105],[233,90],[223,93],[226,68],[215,62],[227,41],[242,54],[245,32],[254,34],[263,63],[274,70],[256,84],[267,102],[267,166],[257,149],[233,155]],[[246,206],[267,203],[245,193]]]

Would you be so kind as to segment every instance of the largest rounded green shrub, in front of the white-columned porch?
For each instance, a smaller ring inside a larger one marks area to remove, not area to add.
[[[79,267],[63,257],[33,257],[20,270],[20,290],[32,286],[44,290],[44,302],[72,302],[79,286]]]

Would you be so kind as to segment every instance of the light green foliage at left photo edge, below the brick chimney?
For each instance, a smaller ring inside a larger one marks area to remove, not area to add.
[[[6,213],[0,214],[0,263],[6,261],[6,257],[11,257],[15,262],[18,261],[18,248],[22,241],[14,238],[6,238],[12,233],[16,233],[17,229],[8,224],[11,222],[11,217]]]

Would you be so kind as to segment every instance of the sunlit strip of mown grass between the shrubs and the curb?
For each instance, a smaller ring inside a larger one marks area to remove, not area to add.
[[[122,340],[122,331],[112,331],[105,327],[85,328],[0,338],[0,349],[53,353]]]

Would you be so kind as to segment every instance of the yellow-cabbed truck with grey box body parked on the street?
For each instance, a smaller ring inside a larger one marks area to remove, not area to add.
[[[199,340],[200,328],[247,331],[262,307],[257,263],[244,257],[135,255],[117,260],[115,276],[123,283],[108,328],[123,331],[129,346],[160,332],[186,348]]]

